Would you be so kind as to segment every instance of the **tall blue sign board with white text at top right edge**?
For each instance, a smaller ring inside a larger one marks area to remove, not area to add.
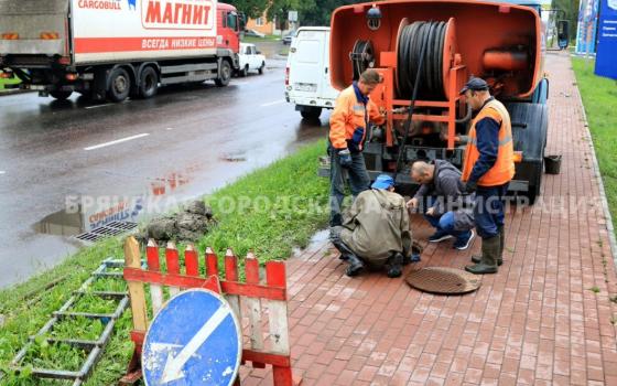
[[[595,73],[617,79],[617,0],[600,0]]]

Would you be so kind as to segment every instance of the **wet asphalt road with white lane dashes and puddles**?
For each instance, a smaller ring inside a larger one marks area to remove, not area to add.
[[[164,88],[123,104],[0,97],[0,288],[83,246],[72,235],[96,225],[105,200],[127,197],[127,219],[142,219],[324,137],[327,111],[306,122],[284,101],[284,65],[269,61],[263,75],[226,88]],[[67,202],[84,203],[82,213],[58,213]]]

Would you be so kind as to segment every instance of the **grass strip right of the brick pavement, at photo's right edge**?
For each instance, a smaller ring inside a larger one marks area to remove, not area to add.
[[[572,58],[576,83],[583,97],[608,208],[617,218],[617,82],[596,76],[595,61]]]

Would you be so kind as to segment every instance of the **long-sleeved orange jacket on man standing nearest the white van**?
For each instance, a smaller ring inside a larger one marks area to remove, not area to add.
[[[334,111],[329,117],[329,141],[335,149],[347,148],[347,141],[351,141],[356,129],[364,130],[357,132],[359,137],[358,150],[366,138],[367,120],[377,125],[383,125],[383,117],[375,103],[368,100],[366,107],[358,100],[354,92],[354,85],[345,88],[338,95]]]

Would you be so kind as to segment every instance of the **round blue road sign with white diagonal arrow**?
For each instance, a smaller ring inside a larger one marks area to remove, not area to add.
[[[147,386],[234,384],[242,352],[240,324],[219,294],[188,290],[152,321],[142,351]]]

